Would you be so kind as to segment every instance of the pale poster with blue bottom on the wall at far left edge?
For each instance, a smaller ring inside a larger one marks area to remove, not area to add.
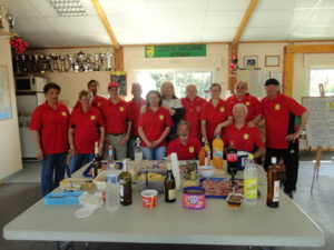
[[[0,66],[0,119],[11,118],[7,66]]]

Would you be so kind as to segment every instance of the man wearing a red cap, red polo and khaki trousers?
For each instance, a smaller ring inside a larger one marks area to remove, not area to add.
[[[129,106],[118,96],[119,88],[117,82],[108,84],[110,99],[100,106],[100,111],[106,124],[106,140],[104,159],[108,158],[108,146],[115,149],[116,160],[124,160],[127,157],[127,143],[130,139],[132,117]]]

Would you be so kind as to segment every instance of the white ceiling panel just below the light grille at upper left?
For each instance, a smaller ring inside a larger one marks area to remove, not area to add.
[[[98,17],[62,17],[46,18],[47,23],[57,33],[105,32],[105,27]]]

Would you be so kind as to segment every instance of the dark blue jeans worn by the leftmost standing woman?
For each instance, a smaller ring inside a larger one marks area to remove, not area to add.
[[[59,186],[63,179],[67,152],[45,154],[42,160],[41,186],[43,197]],[[55,170],[55,180],[53,180]]]

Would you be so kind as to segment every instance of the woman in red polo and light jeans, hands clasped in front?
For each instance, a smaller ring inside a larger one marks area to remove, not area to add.
[[[138,133],[141,138],[144,158],[146,160],[161,160],[166,156],[166,137],[173,121],[168,110],[163,104],[161,96],[156,90],[146,94],[147,110],[140,113]]]

